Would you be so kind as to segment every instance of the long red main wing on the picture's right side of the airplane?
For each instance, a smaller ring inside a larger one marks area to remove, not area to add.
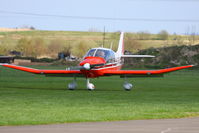
[[[193,65],[180,66],[159,70],[107,70],[105,76],[120,75],[121,77],[161,77],[164,73],[177,71],[185,68],[193,67]]]

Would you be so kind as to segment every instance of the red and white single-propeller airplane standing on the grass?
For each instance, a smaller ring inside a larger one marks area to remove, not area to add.
[[[94,90],[94,84],[90,83],[91,78],[113,76],[118,75],[124,78],[123,87],[125,90],[129,91],[132,89],[133,85],[127,82],[126,78],[129,77],[162,77],[163,74],[193,67],[193,65],[179,66],[173,68],[165,68],[159,70],[121,70],[124,64],[124,58],[145,58],[154,57],[152,55],[124,55],[124,32],[121,32],[118,49],[114,52],[108,48],[92,48],[90,49],[83,60],[79,63],[79,66],[75,68],[66,68],[66,70],[41,70],[29,67],[17,66],[13,64],[0,64],[4,67],[9,67],[12,69],[17,69],[29,73],[40,74],[52,77],[73,77],[73,82],[68,84],[69,90],[74,90],[77,88],[76,77],[86,78],[86,88],[88,90]]]

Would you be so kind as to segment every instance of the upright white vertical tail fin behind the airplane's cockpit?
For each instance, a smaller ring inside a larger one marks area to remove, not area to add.
[[[124,54],[124,32],[121,32],[116,56],[121,57],[123,54]]]

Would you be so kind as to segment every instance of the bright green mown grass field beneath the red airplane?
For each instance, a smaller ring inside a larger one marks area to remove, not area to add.
[[[85,79],[78,79],[77,90],[65,89],[71,81],[1,66],[0,125],[199,116],[199,70],[177,71],[164,78],[132,78],[132,91],[122,89],[119,77],[93,79],[95,91],[85,89]]]

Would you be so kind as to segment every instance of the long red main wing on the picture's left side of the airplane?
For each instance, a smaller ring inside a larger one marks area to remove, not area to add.
[[[11,65],[11,64],[0,64],[0,65],[4,67],[9,67],[12,69],[29,72],[29,73],[43,74],[46,76],[56,76],[56,77],[72,77],[74,75],[83,76],[83,74],[79,70],[41,70],[41,69],[22,67],[22,66]]]

